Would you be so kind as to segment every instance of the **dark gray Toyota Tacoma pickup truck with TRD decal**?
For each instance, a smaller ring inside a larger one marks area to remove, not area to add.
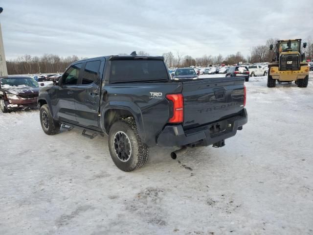
[[[40,90],[40,120],[48,135],[61,126],[80,127],[90,138],[108,134],[113,162],[132,171],[146,163],[151,146],[224,146],[247,122],[244,80],[172,80],[158,56],[92,58]]]

